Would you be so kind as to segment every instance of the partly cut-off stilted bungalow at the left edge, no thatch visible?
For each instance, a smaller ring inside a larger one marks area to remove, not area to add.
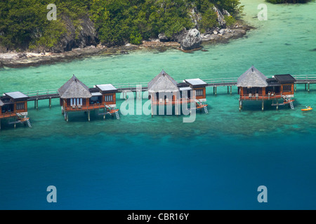
[[[27,123],[29,127],[29,118],[27,118],[27,99],[29,97],[22,92],[6,92],[0,97],[0,121],[9,118],[9,124]],[[13,121],[10,121],[12,119]],[[1,123],[0,123],[1,128]]]

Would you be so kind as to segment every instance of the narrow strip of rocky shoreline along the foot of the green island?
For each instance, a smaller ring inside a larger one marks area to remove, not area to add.
[[[254,29],[249,25],[237,23],[234,27],[219,29],[215,28],[206,34],[201,34],[200,38],[202,45],[227,43],[230,39],[241,38],[246,35],[246,31]],[[158,39],[143,41],[140,45],[126,45],[108,48],[104,45],[91,45],[85,48],[76,48],[66,52],[5,52],[0,53],[0,68],[19,68],[25,66],[39,66],[41,64],[53,64],[56,62],[65,62],[72,59],[80,59],[94,55],[117,55],[128,54],[132,50],[158,50],[163,52],[168,49],[180,48],[180,43],[176,41],[159,41]],[[196,48],[193,50],[200,50]],[[183,50],[184,52],[191,52],[192,50]]]

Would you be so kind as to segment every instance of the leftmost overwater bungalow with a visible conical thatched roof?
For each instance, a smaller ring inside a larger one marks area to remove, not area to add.
[[[114,90],[113,90],[114,91]],[[60,95],[60,106],[62,113],[65,115],[65,120],[68,121],[68,113],[75,111],[85,111],[88,113],[90,121],[90,111],[98,111],[99,115],[117,114],[118,109],[112,108],[115,105],[115,97],[107,91],[100,92],[100,88],[89,88],[82,83],[76,76],[72,76],[62,87],[58,89]],[[107,96],[112,97],[107,97]],[[115,105],[116,106],[116,105]]]

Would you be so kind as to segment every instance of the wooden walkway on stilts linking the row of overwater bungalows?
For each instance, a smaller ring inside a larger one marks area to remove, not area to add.
[[[268,77],[271,78],[272,76]],[[316,83],[316,75],[300,75],[300,76],[293,76],[296,78],[295,82],[295,91],[297,84],[305,84],[305,90],[310,90],[310,84]],[[207,83],[207,87],[213,87],[213,93],[216,94],[217,87],[228,87],[228,93],[232,94],[232,86],[237,85],[238,78],[212,78],[212,79],[203,79],[204,82]],[[181,83],[182,80],[178,81]],[[118,83],[113,84],[114,87],[117,88],[118,92],[145,92],[147,91],[147,82],[139,82],[139,83]],[[88,87],[94,87],[93,85]],[[141,87],[141,88],[140,88]],[[229,91],[230,87],[230,91]],[[28,101],[34,101],[34,107],[37,108],[37,104],[39,100],[42,99],[49,99],[49,106],[51,106],[51,99],[59,98],[58,90],[37,90],[31,92],[23,92],[29,96]]]

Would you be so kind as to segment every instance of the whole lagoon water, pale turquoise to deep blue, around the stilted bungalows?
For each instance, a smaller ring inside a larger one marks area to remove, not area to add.
[[[268,6],[243,0],[244,20],[257,29],[207,52],[137,51],[72,62],[1,69],[0,89],[57,89],[72,74],[86,85],[147,82],[164,69],[176,80],[237,77],[254,64],[267,76],[316,72],[316,3]],[[84,113],[63,119],[58,99],[39,110],[29,103],[33,128],[1,121],[1,209],[316,209],[316,86],[298,85],[296,110],[245,103],[218,87],[206,89],[209,114],[183,116]],[[117,94],[119,98],[119,94]],[[123,99],[117,101],[118,106]],[[145,99],[143,101],[145,103]],[[46,188],[57,188],[57,203]],[[257,201],[258,186],[268,203]]]

